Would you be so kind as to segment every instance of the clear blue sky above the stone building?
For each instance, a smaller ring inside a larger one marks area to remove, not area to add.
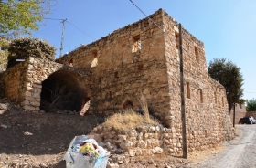
[[[256,98],[255,0],[133,0],[133,3],[147,15],[163,8],[204,42],[207,62],[213,58],[230,59],[241,68],[245,89],[243,98]],[[62,0],[46,17],[68,19],[63,44],[63,53],[67,53],[145,16],[130,0]],[[48,40],[58,49],[58,58],[60,20],[45,19],[42,24],[32,37]]]

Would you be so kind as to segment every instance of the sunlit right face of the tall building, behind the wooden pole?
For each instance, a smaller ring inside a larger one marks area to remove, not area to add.
[[[181,141],[179,30],[176,21],[165,12],[164,25],[171,100],[165,123],[176,131],[177,141]],[[188,150],[207,149],[215,142],[233,137],[225,89],[208,76],[203,43],[183,27],[182,42]]]

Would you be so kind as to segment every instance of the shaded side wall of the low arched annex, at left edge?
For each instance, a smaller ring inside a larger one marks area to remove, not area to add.
[[[24,100],[27,82],[28,61],[20,62],[15,67],[8,68],[0,74],[0,81],[5,86],[5,97],[16,103]]]

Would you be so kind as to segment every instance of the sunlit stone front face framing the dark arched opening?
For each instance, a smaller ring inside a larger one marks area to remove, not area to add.
[[[78,68],[72,68],[66,65],[62,65],[56,62],[49,61],[41,58],[27,58],[27,80],[26,85],[26,97],[21,101],[21,105],[25,110],[40,110],[40,94],[42,91],[42,82],[45,79],[59,70],[69,70],[76,74],[79,74],[84,79],[84,86],[87,86],[90,71],[80,70]],[[91,94],[90,87],[88,86],[88,94]]]

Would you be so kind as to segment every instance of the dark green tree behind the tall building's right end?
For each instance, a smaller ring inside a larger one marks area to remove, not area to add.
[[[243,79],[240,68],[230,60],[226,61],[226,58],[215,58],[209,62],[208,74],[226,89],[230,113],[233,104],[239,103],[243,96],[243,89],[241,88]]]

